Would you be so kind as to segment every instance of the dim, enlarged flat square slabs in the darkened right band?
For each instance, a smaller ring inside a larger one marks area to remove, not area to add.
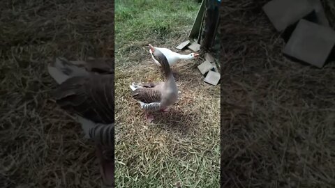
[[[335,31],[320,0],[273,0],[263,10],[286,37],[285,55],[322,68],[335,46]]]

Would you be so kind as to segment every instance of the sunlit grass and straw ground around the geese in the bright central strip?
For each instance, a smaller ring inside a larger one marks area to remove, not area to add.
[[[186,40],[195,1],[116,1],[116,184],[118,187],[219,187],[219,86],[204,84],[201,61],[172,70],[179,102],[148,124],[131,97],[133,81],[160,81],[147,45],[173,49]],[[190,52],[181,52],[183,54]]]

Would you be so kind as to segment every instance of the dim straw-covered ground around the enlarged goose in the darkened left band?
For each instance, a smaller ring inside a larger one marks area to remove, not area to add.
[[[49,100],[54,56],[114,57],[112,1],[0,2],[0,187],[100,187],[80,125]]]

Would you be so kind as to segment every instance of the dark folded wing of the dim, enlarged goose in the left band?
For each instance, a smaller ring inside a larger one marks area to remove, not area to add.
[[[94,123],[114,123],[114,75],[71,77],[55,91],[62,109]]]

